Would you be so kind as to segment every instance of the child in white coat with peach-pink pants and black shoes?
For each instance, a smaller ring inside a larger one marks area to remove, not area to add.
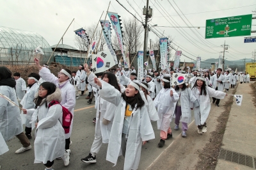
[[[172,138],[172,130],[170,122],[172,120],[175,104],[179,100],[179,95],[170,85],[170,77],[163,77],[162,79],[163,89],[159,91],[159,94],[154,100],[155,107],[159,120],[157,120],[157,129],[160,129],[160,142],[159,147],[163,147],[165,140]]]

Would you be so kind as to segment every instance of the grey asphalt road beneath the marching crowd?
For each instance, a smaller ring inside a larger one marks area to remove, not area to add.
[[[87,94],[87,93],[86,93]],[[124,167],[124,157],[119,157],[118,162],[115,167],[114,164],[106,160],[106,153],[108,144],[102,144],[100,148],[100,153],[96,155],[96,164],[86,164],[81,162],[81,158],[86,157],[90,153],[90,148],[93,143],[95,134],[95,123],[92,122],[95,118],[96,109],[94,105],[87,104],[87,100],[84,99],[86,96],[77,99],[76,108],[74,112],[74,125],[72,130],[72,135],[70,137],[72,141],[72,146],[70,146],[70,164],[65,167],[63,160],[54,160],[54,169],[123,169]],[[193,114],[192,114],[193,116]],[[193,118],[192,118],[193,120]],[[181,125],[181,124],[180,124]],[[181,129],[173,130],[175,127],[174,120],[171,123],[171,128],[173,132],[173,138],[168,139],[165,142],[163,148],[158,148],[157,144],[160,141],[160,130],[157,130],[156,122],[152,122],[152,127],[156,135],[156,139],[149,141],[147,144],[142,146],[141,150],[141,160],[139,169],[147,169],[154,160],[156,160],[161,153],[181,134]],[[180,126],[181,128],[181,126]],[[0,166],[2,169],[44,169],[43,164],[34,164],[34,141],[35,137],[31,141],[32,149],[25,151],[24,153],[15,154],[15,151],[21,147],[19,139],[16,137],[11,141],[7,142],[9,146],[9,151],[0,156]]]

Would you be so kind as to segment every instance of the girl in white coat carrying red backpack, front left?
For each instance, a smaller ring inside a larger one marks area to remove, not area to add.
[[[36,127],[34,163],[43,162],[45,169],[52,169],[54,159],[58,157],[63,158],[65,166],[69,164],[62,127],[62,107],[60,104],[49,107],[52,100],[61,102],[61,90],[52,82],[43,82],[35,95],[35,109],[23,110],[31,120],[32,128]]]

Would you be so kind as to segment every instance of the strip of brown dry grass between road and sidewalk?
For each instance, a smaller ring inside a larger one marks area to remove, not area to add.
[[[237,88],[237,86],[236,86]],[[232,95],[236,93],[236,88],[232,91]],[[225,133],[229,113],[233,104],[233,96],[228,96],[228,100],[224,105],[225,111],[218,117],[218,125],[214,132],[211,132],[209,143],[205,145],[203,150],[198,150],[199,160],[196,164],[196,169],[215,169],[220,149],[222,145],[223,135]]]

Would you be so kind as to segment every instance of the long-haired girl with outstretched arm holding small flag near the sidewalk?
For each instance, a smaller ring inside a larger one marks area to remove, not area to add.
[[[196,77],[196,83],[192,88],[192,95],[199,102],[199,106],[194,107],[197,132],[198,134],[206,133],[207,127],[205,121],[207,120],[209,112],[211,111],[210,97],[223,99],[225,96],[227,96],[227,94],[223,93],[222,91],[209,88],[206,85],[204,77]]]

